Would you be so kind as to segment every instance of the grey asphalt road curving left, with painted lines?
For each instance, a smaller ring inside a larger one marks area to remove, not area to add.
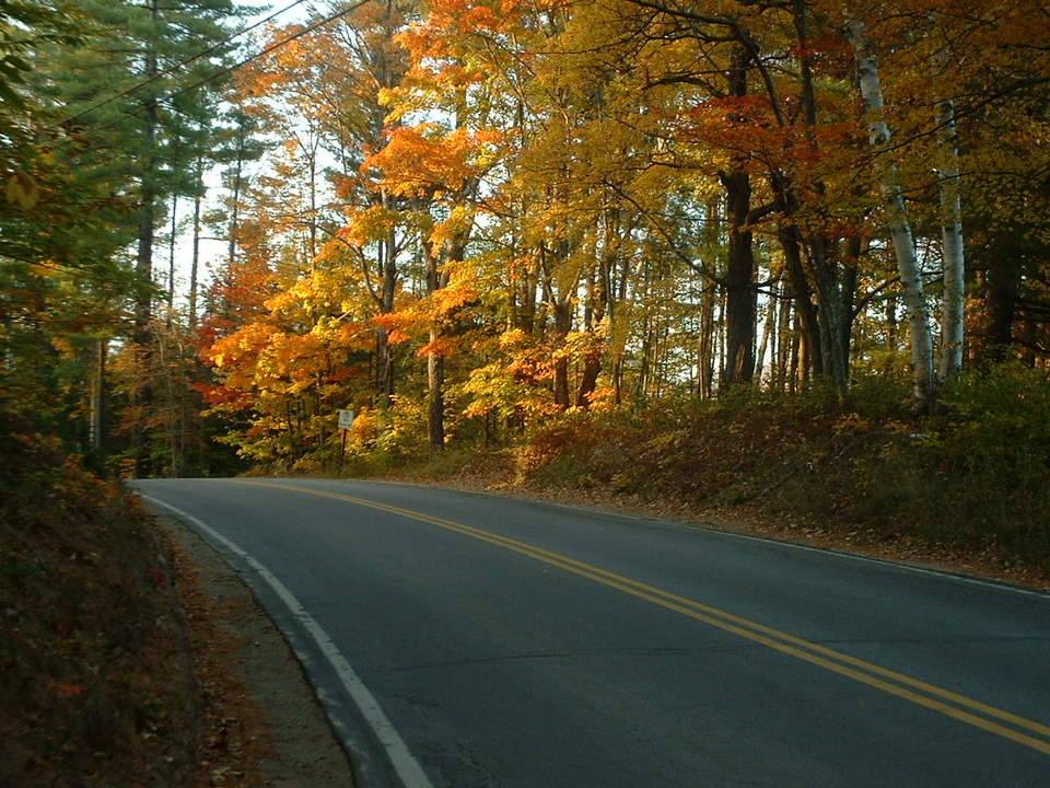
[[[135,486],[242,570],[365,785],[1050,785],[1043,594],[408,485]]]

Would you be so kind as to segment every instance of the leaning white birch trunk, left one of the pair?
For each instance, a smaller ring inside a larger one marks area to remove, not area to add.
[[[863,23],[853,22],[850,25],[850,39],[856,56],[861,97],[867,113],[868,141],[874,153],[885,154],[889,150],[891,135],[884,114],[885,104],[878,66],[864,38]],[[905,291],[905,304],[908,306],[912,393],[920,409],[925,410],[933,404],[934,394],[933,337],[930,332],[929,309],[923,293],[919,260],[915,256],[915,242],[905,208],[899,172],[892,160],[884,170],[882,188],[886,200],[889,237],[897,257],[897,273]]]

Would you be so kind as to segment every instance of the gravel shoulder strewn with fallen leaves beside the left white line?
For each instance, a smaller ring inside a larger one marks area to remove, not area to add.
[[[353,786],[350,762],[283,636],[226,563],[178,520],[172,545],[206,697],[198,786]]]

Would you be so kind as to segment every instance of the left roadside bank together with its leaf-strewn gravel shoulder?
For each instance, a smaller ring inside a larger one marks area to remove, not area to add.
[[[210,547],[24,425],[0,425],[0,785],[352,785]]]

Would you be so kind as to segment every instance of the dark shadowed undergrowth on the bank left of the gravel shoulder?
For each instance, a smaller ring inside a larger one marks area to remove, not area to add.
[[[190,785],[192,672],[147,515],[2,410],[0,456],[0,785]]]

